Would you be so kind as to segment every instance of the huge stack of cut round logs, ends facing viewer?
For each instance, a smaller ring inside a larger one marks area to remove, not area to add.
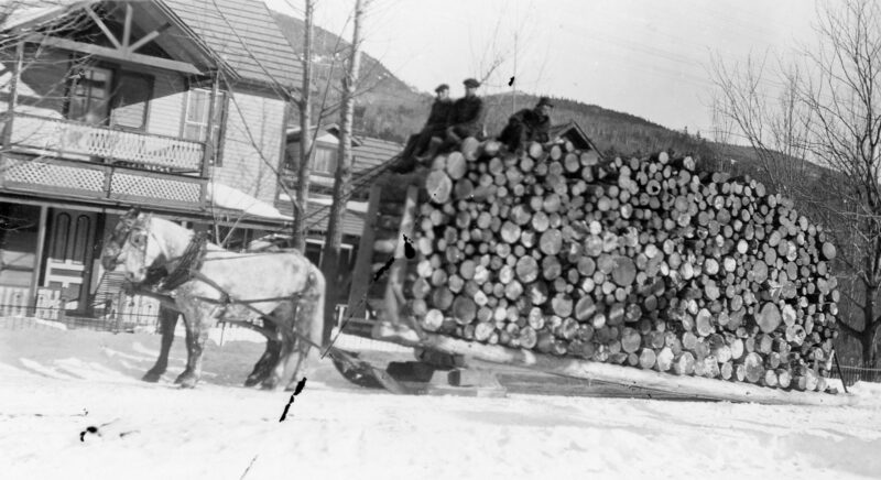
[[[835,247],[754,179],[661,153],[467,141],[435,159],[404,284],[422,328],[598,362],[824,391]],[[380,240],[381,241],[381,240]]]

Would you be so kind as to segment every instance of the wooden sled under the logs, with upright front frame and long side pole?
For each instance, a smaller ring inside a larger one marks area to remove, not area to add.
[[[556,357],[500,345],[486,345],[423,331],[414,320],[407,320],[403,294],[407,262],[414,261],[414,259],[409,259],[406,253],[407,249],[413,248],[413,244],[407,243],[411,243],[413,238],[420,195],[422,194],[424,197],[425,194],[424,189],[421,192],[418,186],[423,179],[424,177],[418,174],[402,175],[396,176],[394,182],[371,187],[367,218],[356,258],[347,319],[340,326],[341,332],[412,347],[414,352],[434,352],[434,358],[439,358],[442,361],[426,362],[425,354],[417,354],[421,360],[411,363],[414,363],[415,367],[426,366],[427,370],[435,370],[435,373],[450,371],[463,374],[461,372],[468,372],[470,363],[480,362],[483,369],[487,369],[486,366],[490,366],[489,373],[493,373],[491,366],[513,367],[584,381],[585,392],[590,390],[588,385],[594,382],[618,385],[619,393],[616,396],[830,406],[856,403],[857,399],[847,393],[781,390],[746,382],[676,375],[637,367]],[[402,194],[401,189],[405,192]],[[381,206],[384,207],[383,211],[381,211]],[[394,234],[389,234],[391,223],[396,226]],[[372,310],[377,317],[376,320],[372,320],[373,328],[357,330],[347,328],[348,325],[363,325],[365,321],[371,321],[366,319],[368,310]],[[358,320],[351,321],[352,318]],[[342,364],[335,363],[335,366],[344,378],[355,384],[366,388],[382,386],[372,378],[352,374]],[[432,383],[437,383],[436,378],[433,381],[426,381],[425,378],[407,378],[394,370],[392,366],[387,367],[390,375],[398,374],[395,379],[400,383],[410,385],[406,393],[431,393],[433,391]],[[478,384],[472,386],[470,394],[477,392],[476,394],[479,395],[481,388],[492,391],[494,385]],[[436,390],[434,389],[434,391]],[[452,389],[453,391],[450,389],[442,390],[455,393],[455,389]],[[541,386],[536,384],[535,390],[540,391]],[[401,392],[401,389],[398,389],[395,393]],[[579,394],[578,389],[573,393]]]

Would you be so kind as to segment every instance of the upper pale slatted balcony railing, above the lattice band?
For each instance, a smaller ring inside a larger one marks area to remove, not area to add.
[[[74,160],[107,159],[165,172],[199,172],[205,144],[173,137],[115,130],[69,120],[15,113],[15,150],[51,152]]]

